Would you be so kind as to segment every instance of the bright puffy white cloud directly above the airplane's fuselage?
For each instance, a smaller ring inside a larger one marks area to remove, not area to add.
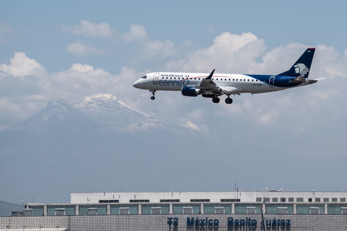
[[[256,57],[264,51],[263,39],[258,39],[252,33],[236,35],[225,32],[213,40],[212,46],[191,52],[183,59],[168,62],[166,68],[196,72],[211,72],[216,69],[217,73],[252,71],[256,67]],[[247,62],[239,62],[246,59]]]

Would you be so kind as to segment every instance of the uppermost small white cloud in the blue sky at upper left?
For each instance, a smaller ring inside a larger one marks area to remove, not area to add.
[[[84,35],[91,37],[107,38],[112,36],[112,30],[107,23],[91,23],[87,20],[81,20],[75,26],[62,26],[62,30],[75,35]]]

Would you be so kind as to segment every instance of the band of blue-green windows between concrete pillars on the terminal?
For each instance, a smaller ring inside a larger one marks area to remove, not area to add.
[[[311,214],[310,208],[319,209],[319,214],[341,214],[342,210],[347,213],[347,204],[338,202],[268,202],[268,203],[127,203],[127,204],[26,204],[24,216],[49,216],[54,215],[56,209],[65,209],[65,215],[88,215],[88,208],[96,209],[96,215],[120,215],[120,210],[128,208],[128,214],[150,214],[152,207],[161,207],[162,214],[183,214],[184,207],[192,207],[193,214],[213,214],[215,207],[224,207],[224,213],[246,214],[247,207],[255,207],[256,214],[260,214],[260,208],[265,208],[265,214],[277,214],[278,207],[287,207],[288,214]]]

